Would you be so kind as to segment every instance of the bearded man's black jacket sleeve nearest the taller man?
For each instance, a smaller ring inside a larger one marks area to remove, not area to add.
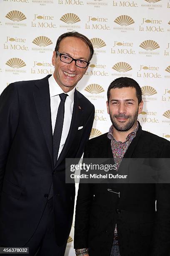
[[[87,143],[88,144],[88,143]],[[88,146],[85,147],[84,158],[89,158]],[[93,200],[92,184],[80,183],[76,210],[74,248],[88,248],[88,229],[90,219],[90,206]]]

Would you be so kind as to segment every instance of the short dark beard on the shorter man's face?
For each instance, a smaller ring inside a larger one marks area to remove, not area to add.
[[[124,126],[124,123],[117,124],[115,118],[130,118],[129,122]],[[138,120],[138,110],[136,111],[135,115],[125,115],[125,114],[119,114],[119,115],[110,115],[110,120],[112,122],[113,127],[117,131],[129,131],[133,125]]]

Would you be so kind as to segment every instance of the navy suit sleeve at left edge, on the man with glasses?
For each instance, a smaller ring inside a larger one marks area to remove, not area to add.
[[[0,195],[5,166],[19,119],[18,91],[9,84],[0,95]]]

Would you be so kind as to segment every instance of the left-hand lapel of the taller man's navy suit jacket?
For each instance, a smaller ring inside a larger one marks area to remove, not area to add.
[[[40,120],[42,132],[45,137],[45,142],[53,163],[53,148],[52,148],[52,124],[51,124],[51,108],[50,108],[50,90],[47,76],[37,80],[33,90],[37,115]]]

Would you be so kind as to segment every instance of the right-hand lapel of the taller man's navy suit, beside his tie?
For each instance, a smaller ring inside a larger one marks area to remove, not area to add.
[[[74,106],[73,106],[73,110],[72,110],[72,119],[71,119],[70,129],[69,129],[68,136],[66,138],[64,147],[62,148],[62,151],[60,153],[60,156],[59,156],[54,168],[59,166],[61,161],[65,158],[65,156],[70,148],[70,145],[72,145],[72,142],[75,138],[79,123],[82,123],[83,112],[80,107],[81,106],[81,102],[80,102],[81,97],[82,96],[79,93],[77,93],[77,90],[75,89]]]

